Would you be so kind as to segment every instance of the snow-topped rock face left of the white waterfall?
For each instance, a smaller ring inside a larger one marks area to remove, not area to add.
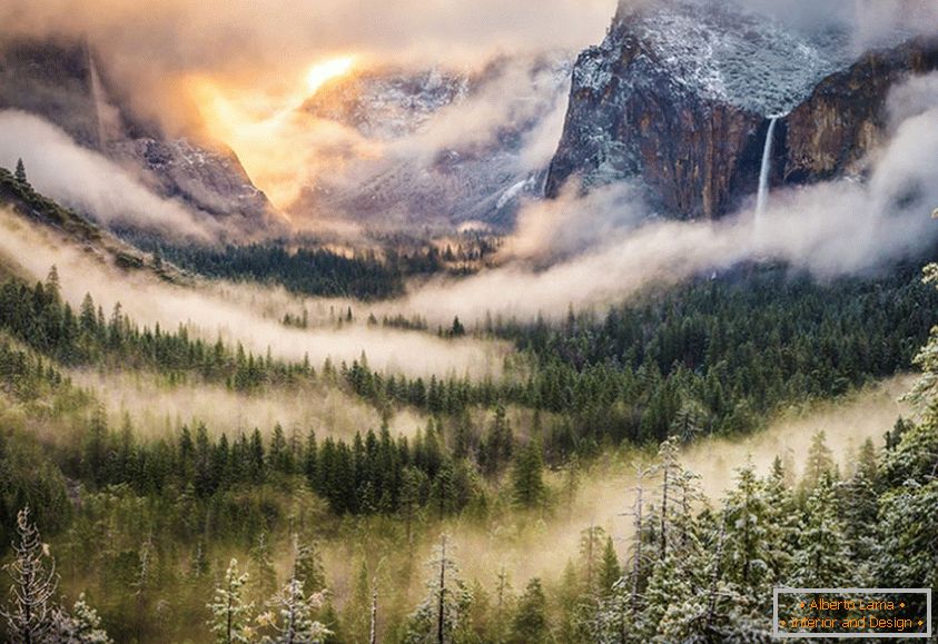
[[[791,33],[717,0],[620,8],[576,61],[545,192],[639,177],[670,215],[720,216],[756,189],[768,118],[846,67],[843,51],[836,33]]]

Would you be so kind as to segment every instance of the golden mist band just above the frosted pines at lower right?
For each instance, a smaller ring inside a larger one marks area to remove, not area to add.
[[[763,476],[778,456],[799,478],[817,432],[825,432],[841,476],[849,476],[860,445],[870,438],[881,449],[883,434],[900,414],[908,413],[897,399],[914,380],[914,376],[898,376],[845,399],[792,408],[752,435],[701,438],[682,447],[680,462],[700,475],[701,491],[711,507],[719,506],[735,484],[735,469],[748,463]],[[638,449],[608,455],[585,472],[572,499],[557,499],[556,514],[550,519],[510,515],[507,521],[493,522],[486,528],[450,525],[455,557],[464,574],[492,584],[504,565],[516,589],[533,576],[557,579],[567,558],[576,559],[580,535],[591,525],[605,529],[613,537],[620,561],[628,561],[633,518],[625,513],[632,509],[635,488],[642,485],[649,499],[660,483],[654,476],[636,475],[651,462],[649,453]],[[549,482],[557,494],[565,494],[561,492],[565,485],[562,472],[553,473]]]

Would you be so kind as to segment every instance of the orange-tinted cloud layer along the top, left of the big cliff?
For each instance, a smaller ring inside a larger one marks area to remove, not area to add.
[[[337,53],[462,65],[496,52],[577,50],[602,37],[614,8],[614,0],[158,0],[144,12],[126,0],[10,0],[0,23],[8,37],[87,39],[132,88],[135,107],[172,129],[192,122],[179,82],[194,75],[284,93],[309,65]]]

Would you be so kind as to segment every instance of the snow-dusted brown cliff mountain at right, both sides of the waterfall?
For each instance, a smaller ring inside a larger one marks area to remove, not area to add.
[[[719,217],[756,191],[773,117],[774,184],[846,171],[879,138],[892,83],[935,55],[919,40],[856,61],[843,32],[730,1],[623,3],[576,60],[545,194],[638,177],[667,214]]]

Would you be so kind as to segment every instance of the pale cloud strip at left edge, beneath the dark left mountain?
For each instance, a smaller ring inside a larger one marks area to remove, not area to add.
[[[116,164],[79,147],[59,128],[19,111],[0,111],[0,166],[22,158],[30,184],[106,225],[132,224],[168,237],[207,240],[220,230],[177,201],[150,192]]]

